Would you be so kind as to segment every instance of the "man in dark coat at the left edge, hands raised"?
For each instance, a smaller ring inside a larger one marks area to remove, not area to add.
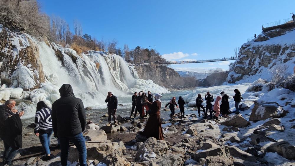
[[[19,148],[22,148],[22,121],[24,111],[14,109],[15,101],[9,99],[0,106],[0,138],[4,143],[2,165],[11,165]]]

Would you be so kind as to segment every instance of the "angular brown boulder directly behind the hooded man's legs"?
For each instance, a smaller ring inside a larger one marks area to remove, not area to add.
[[[87,160],[101,161],[107,155],[114,153],[114,146],[110,140],[104,142],[85,142],[87,149]],[[78,162],[79,152],[76,146],[69,148],[68,160],[70,162]]]

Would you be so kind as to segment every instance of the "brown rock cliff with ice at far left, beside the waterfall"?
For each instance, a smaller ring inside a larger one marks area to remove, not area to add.
[[[0,24],[0,39],[1,85],[29,90],[45,82],[39,48],[29,35],[4,28]]]

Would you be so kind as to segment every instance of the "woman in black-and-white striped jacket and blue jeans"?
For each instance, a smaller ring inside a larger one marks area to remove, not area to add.
[[[43,160],[50,160],[54,156],[50,156],[50,136],[53,132],[51,121],[51,109],[43,102],[37,103],[37,111],[35,116],[34,133],[39,137],[42,147],[45,151]]]

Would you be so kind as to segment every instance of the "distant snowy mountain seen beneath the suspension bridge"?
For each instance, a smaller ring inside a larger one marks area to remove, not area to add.
[[[200,68],[174,68],[182,77],[195,77],[197,79],[205,78],[208,75],[208,69]]]

